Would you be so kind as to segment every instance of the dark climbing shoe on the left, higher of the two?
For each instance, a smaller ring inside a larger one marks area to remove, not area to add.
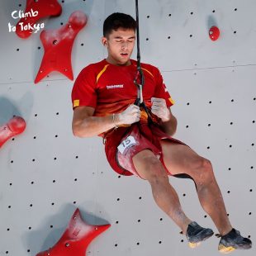
[[[201,241],[204,241],[213,235],[211,229],[205,229],[193,221],[187,226],[187,240],[191,248],[197,247]]]

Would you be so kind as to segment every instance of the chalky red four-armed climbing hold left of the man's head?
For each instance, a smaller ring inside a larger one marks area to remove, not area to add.
[[[71,65],[73,40],[86,23],[86,15],[81,11],[76,11],[71,14],[66,25],[57,30],[41,32],[40,40],[44,45],[45,55],[36,75],[35,83],[38,83],[52,71],[59,71],[73,80]]]

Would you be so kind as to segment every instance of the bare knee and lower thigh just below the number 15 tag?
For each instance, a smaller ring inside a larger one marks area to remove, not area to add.
[[[160,160],[153,154],[153,152],[141,154],[140,158],[135,159],[135,168],[138,173],[140,173],[149,183],[161,183],[168,179],[168,174],[166,173],[163,164]]]

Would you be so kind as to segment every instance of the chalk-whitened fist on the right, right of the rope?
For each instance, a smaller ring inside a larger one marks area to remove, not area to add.
[[[151,112],[161,118],[162,121],[169,121],[171,118],[170,111],[166,106],[164,98],[151,97],[152,107]]]

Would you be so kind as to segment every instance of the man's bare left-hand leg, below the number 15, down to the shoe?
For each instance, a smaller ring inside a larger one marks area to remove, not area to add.
[[[183,234],[186,234],[187,225],[192,220],[184,214],[177,192],[170,185],[163,164],[149,149],[135,154],[133,163],[140,177],[150,183],[157,205],[183,230]]]

